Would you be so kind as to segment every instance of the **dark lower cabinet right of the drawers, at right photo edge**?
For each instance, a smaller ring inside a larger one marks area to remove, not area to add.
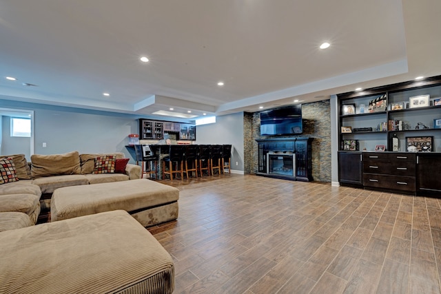
[[[417,160],[418,196],[441,198],[441,154],[420,153]]]

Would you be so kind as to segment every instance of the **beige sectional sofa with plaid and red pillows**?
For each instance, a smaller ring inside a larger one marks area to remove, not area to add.
[[[57,188],[141,178],[141,167],[129,163],[123,173],[94,174],[95,158],[104,155],[114,155],[116,159],[125,157],[121,152],[79,154],[72,151],[35,154],[28,162],[23,154],[0,156],[0,159],[12,158],[18,178],[0,185],[0,231],[35,224],[41,209],[50,208],[50,196]],[[5,212],[8,213],[3,214]]]

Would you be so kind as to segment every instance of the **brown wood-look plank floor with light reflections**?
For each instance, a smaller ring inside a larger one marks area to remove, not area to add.
[[[254,175],[162,180],[179,217],[148,230],[174,293],[440,293],[440,200]]]

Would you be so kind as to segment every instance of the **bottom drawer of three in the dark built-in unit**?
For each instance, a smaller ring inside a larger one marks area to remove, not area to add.
[[[363,174],[363,185],[391,190],[416,191],[415,177]]]

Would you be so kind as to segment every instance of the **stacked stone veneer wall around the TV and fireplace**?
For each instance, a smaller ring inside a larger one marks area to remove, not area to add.
[[[303,134],[299,137],[314,138],[312,141],[312,177],[314,181],[331,182],[331,107],[329,100],[302,104]],[[260,136],[258,112],[243,115],[244,174],[258,170],[257,139]],[[293,137],[293,136],[286,136]],[[283,138],[283,136],[278,136]]]

